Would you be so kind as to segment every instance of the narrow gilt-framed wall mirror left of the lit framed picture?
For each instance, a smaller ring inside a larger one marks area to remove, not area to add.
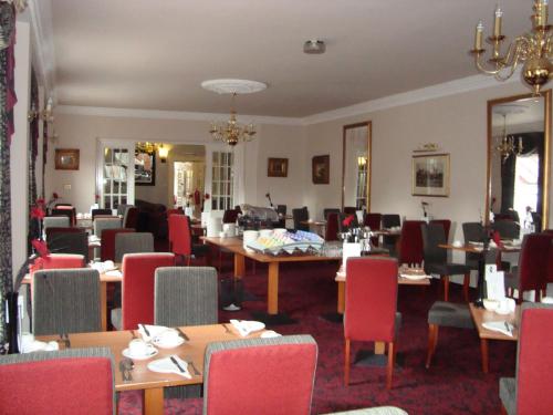
[[[371,207],[371,122],[343,128],[342,209]]]

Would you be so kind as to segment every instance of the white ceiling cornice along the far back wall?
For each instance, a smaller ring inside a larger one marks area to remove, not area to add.
[[[150,120],[181,120],[181,121],[227,121],[229,114],[217,113],[194,113],[186,111],[159,111],[159,110],[134,110],[134,108],[111,108],[102,106],[76,106],[59,105],[54,108],[60,114],[111,116],[128,118],[150,118]],[[302,118],[262,116],[238,114],[239,122],[274,125],[302,125]]]

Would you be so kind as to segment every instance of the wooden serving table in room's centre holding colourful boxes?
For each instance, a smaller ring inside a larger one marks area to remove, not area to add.
[[[341,261],[342,257],[319,257],[314,255],[298,256],[272,256],[246,250],[242,246],[242,239],[204,237],[205,242],[226,248],[234,253],[234,277],[242,278],[246,270],[246,258],[254,261],[268,263],[269,274],[267,284],[267,312],[270,315],[279,313],[279,267],[281,262],[317,262],[317,261]]]

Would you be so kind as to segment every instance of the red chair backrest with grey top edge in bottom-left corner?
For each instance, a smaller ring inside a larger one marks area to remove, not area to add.
[[[0,356],[3,415],[115,413],[114,356],[108,347]]]

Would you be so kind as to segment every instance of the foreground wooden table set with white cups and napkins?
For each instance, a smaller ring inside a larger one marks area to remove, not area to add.
[[[211,325],[196,325],[196,326],[181,326],[179,328],[188,338],[182,345],[174,349],[160,349],[159,353],[148,360],[138,361],[134,360],[134,369],[131,372],[132,381],[123,381],[119,371],[119,362],[124,359],[122,352],[128,346],[128,342],[133,340],[134,335],[139,335],[137,331],[109,331],[96,333],[76,333],[70,334],[69,339],[71,347],[93,347],[105,346],[109,347],[115,357],[115,391],[144,391],[144,407],[143,413],[148,415],[157,415],[164,413],[164,388],[167,386],[178,385],[197,385],[204,383],[204,356],[208,343],[215,341],[229,341],[237,339],[251,339],[259,338],[262,331],[250,334],[248,338],[241,338],[232,324],[211,324]],[[58,341],[59,336],[39,336],[41,341]],[[62,344],[60,347],[62,349]],[[173,373],[156,373],[148,370],[147,364],[156,359],[163,359],[177,354],[180,359],[192,362],[199,375],[194,373],[189,367],[192,378],[188,380]],[[86,387],[86,385],[83,385]]]

